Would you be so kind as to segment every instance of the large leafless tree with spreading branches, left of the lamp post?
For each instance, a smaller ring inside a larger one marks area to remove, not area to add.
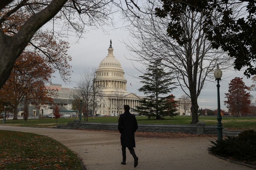
[[[161,1],[145,3],[144,9],[148,13],[157,6],[162,6]],[[216,18],[218,13],[216,12]],[[220,50],[213,50],[206,39],[204,18],[200,13],[190,9],[185,15],[180,15],[182,26],[185,28],[183,37],[187,43],[179,45],[176,40],[168,36],[167,28],[170,16],[156,17],[154,12],[144,15],[143,19],[132,18],[129,27],[133,41],[128,44],[128,49],[135,52],[132,61],[147,64],[155,58],[162,59],[162,65],[172,72],[177,85],[191,99],[191,113],[193,124],[198,122],[197,98],[204,87],[205,81],[213,81],[213,70],[217,63],[222,68],[229,68],[231,59]]]

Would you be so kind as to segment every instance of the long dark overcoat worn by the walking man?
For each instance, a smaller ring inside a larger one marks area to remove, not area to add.
[[[135,148],[134,133],[138,129],[136,117],[129,111],[121,114],[118,120],[118,130],[121,133],[121,145],[127,148]]]

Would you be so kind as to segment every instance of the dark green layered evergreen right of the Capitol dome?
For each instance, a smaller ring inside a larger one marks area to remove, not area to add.
[[[144,84],[139,88],[139,92],[143,92],[147,96],[140,100],[140,106],[136,106],[134,111],[140,115],[148,116],[148,118],[156,117],[156,119],[178,115],[176,113],[177,102],[173,100],[174,96],[162,97],[175,87],[170,87],[174,83],[172,78],[169,77],[170,73],[164,72],[161,59],[150,62],[147,71],[144,76],[139,77],[142,79],[140,83]]]

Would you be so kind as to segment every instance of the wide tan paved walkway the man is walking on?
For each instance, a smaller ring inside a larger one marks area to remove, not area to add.
[[[251,170],[208,154],[211,137],[142,138],[135,137],[135,153],[139,165],[126,150],[126,165],[121,165],[120,134],[116,132],[74,129],[48,129],[1,126],[0,130],[14,130],[46,135],[66,145],[78,154],[89,170]],[[0,139],[1,140],[1,139]]]

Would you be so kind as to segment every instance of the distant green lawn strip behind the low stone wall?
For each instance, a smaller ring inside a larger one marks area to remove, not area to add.
[[[176,117],[165,117],[164,120],[148,119],[145,116],[136,116],[138,123],[149,123],[149,124],[190,124],[191,116],[176,116]],[[76,118],[60,118],[58,124],[66,124],[70,121],[74,121]],[[84,121],[84,118],[82,118]],[[199,121],[203,121],[208,125],[215,125],[217,123],[216,117],[199,117]],[[109,117],[88,117],[88,122],[117,122],[117,116]],[[0,125],[2,121],[0,121]],[[243,117],[223,117],[223,127],[228,129],[254,129],[256,130],[256,118],[243,118]],[[10,126],[23,126],[23,127],[56,127],[56,119],[44,118],[44,119],[28,119],[26,122],[23,119],[20,120],[6,120],[5,125]]]

